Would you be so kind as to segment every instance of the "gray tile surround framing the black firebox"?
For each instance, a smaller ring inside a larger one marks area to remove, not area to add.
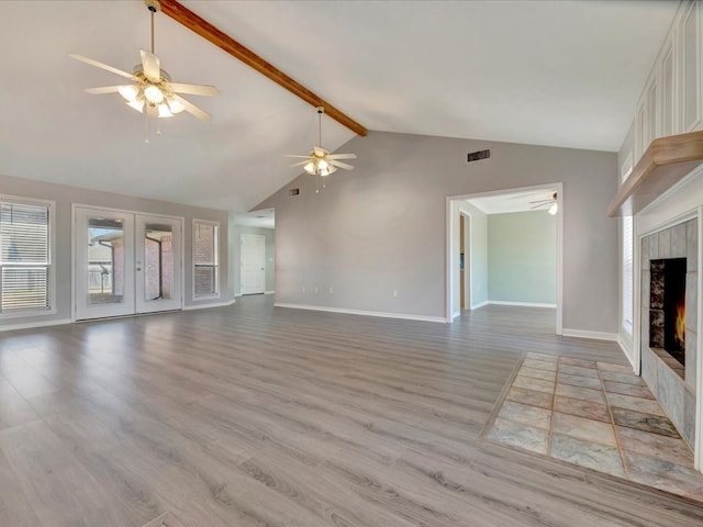
[[[641,377],[681,436],[695,442],[698,350],[698,220],[689,220],[641,239]],[[649,347],[650,260],[687,258],[685,367]],[[678,372],[677,372],[678,370]]]

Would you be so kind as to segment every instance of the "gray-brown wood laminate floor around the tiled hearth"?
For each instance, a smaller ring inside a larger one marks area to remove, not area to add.
[[[0,525],[703,525],[693,502],[479,438],[524,352],[625,365],[553,319],[247,298],[0,334]]]

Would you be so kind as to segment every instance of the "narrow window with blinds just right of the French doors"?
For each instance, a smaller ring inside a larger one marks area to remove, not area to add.
[[[193,220],[193,298],[220,294],[220,224]]]

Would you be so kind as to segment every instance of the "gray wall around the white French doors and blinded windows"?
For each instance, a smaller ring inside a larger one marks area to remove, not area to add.
[[[203,306],[210,303],[219,303],[233,299],[232,289],[228,287],[230,278],[227,272],[227,248],[225,247],[225,244],[222,243],[220,244],[220,299],[199,301],[193,301],[192,299],[192,221],[193,218],[198,218],[220,222],[220,239],[224,240],[227,239],[228,227],[227,213],[225,211],[181,205],[164,201],[146,200],[130,195],[115,194],[111,192],[100,192],[89,189],[81,189],[78,187],[32,181],[8,176],[0,176],[0,193],[4,195],[51,200],[56,203],[56,250],[54,255],[54,266],[56,278],[55,305],[57,310],[57,313],[55,315],[12,317],[0,319],[0,327],[11,326],[15,324],[32,324],[70,318],[72,257],[71,204],[74,203],[185,217],[185,305]]]

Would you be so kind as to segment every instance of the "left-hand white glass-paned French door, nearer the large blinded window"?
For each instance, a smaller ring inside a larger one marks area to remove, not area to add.
[[[134,215],[76,208],[76,319],[134,313]]]

